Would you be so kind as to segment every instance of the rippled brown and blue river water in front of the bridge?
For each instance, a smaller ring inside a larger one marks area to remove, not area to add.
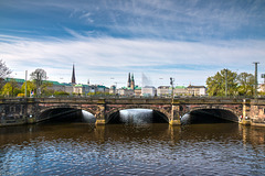
[[[0,175],[264,175],[265,129],[52,123],[0,128]]]

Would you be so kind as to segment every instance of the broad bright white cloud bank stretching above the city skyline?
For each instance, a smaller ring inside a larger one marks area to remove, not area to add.
[[[135,73],[137,84],[140,84],[140,74],[146,73],[156,86],[162,84],[158,81],[159,77],[163,77],[163,84],[169,84],[169,77],[176,77],[179,85],[204,85],[208,76],[222,68],[253,72],[252,62],[256,61],[261,62],[261,72],[265,72],[262,70],[264,41],[199,43],[75,36],[74,40],[0,42],[0,56],[15,77],[23,78],[26,69],[30,73],[43,68],[50,79],[68,81],[75,63],[80,82],[91,79],[107,86],[114,81],[110,77],[126,82],[129,72]],[[1,35],[0,41],[2,38],[7,36]]]

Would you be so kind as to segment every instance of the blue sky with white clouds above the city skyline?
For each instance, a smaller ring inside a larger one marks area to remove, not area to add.
[[[227,68],[265,74],[264,0],[0,0],[0,59],[78,84],[203,86]]]

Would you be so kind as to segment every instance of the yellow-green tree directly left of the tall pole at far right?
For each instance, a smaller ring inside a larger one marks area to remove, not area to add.
[[[253,96],[254,95],[254,85],[255,85],[255,77],[252,74],[241,73],[237,76],[237,91],[240,96]]]

